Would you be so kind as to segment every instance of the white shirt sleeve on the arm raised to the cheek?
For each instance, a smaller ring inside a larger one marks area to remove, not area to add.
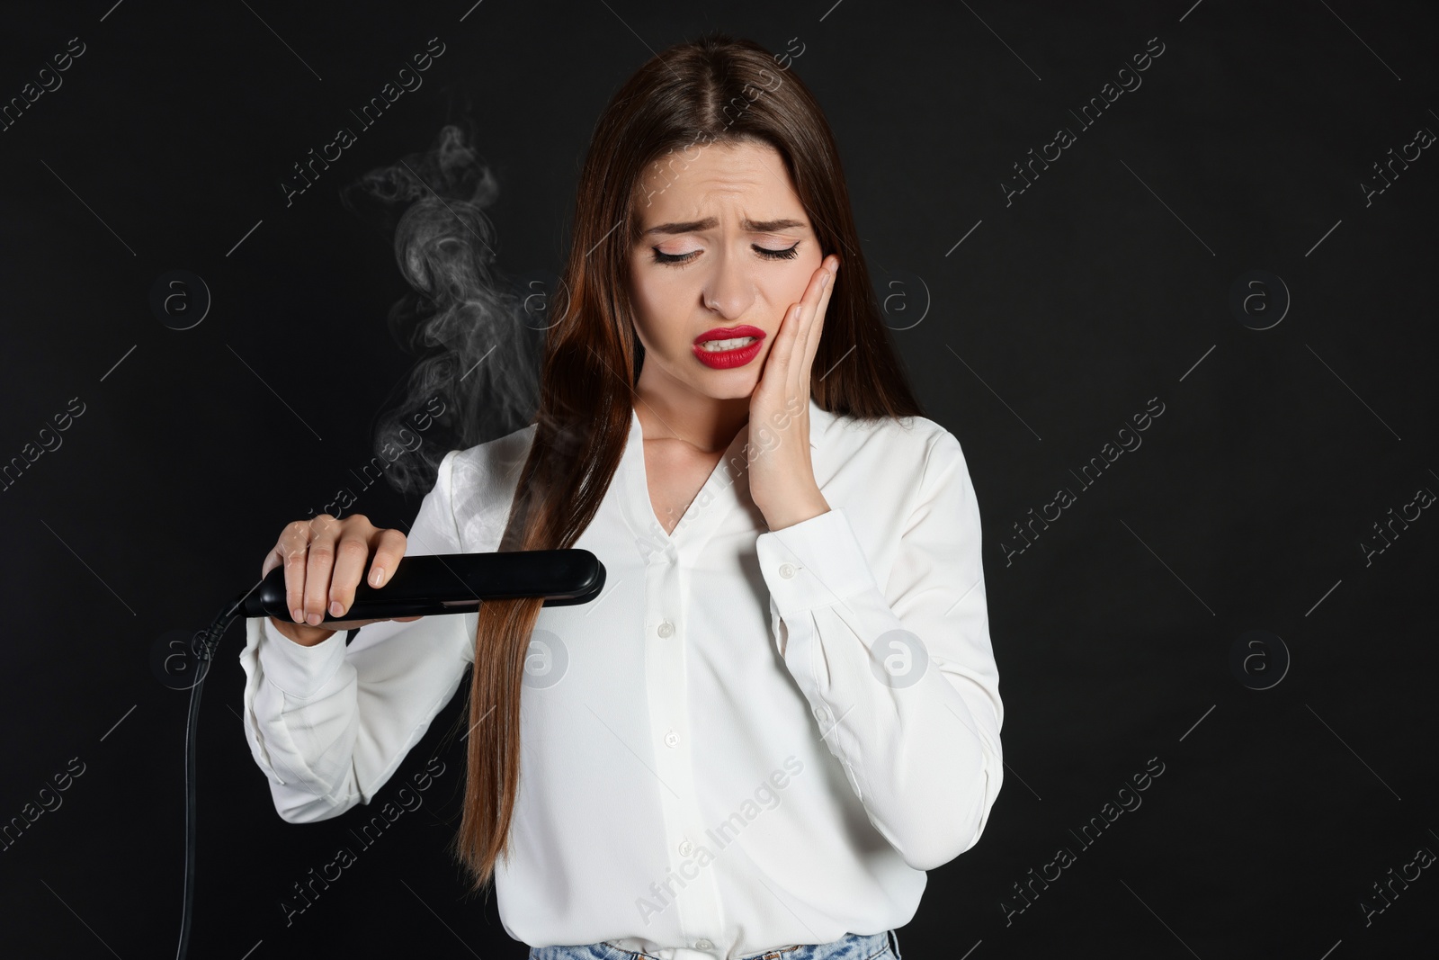
[[[757,538],[774,643],[871,823],[917,869],[980,838],[1003,783],[980,514],[931,436],[881,584],[842,507]]]

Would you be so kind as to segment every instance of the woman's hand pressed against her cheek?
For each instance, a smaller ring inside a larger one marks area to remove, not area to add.
[[[770,530],[829,511],[810,462],[810,368],[835,289],[839,258],[829,255],[810,276],[800,302],[784,314],[764,373],[750,396],[750,498]]]

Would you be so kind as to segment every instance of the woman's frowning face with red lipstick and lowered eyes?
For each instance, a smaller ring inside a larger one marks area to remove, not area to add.
[[[637,204],[629,282],[642,389],[750,396],[784,312],[823,259],[778,151],[745,142],[665,155],[642,178]],[[711,353],[708,363],[696,354],[696,338],[741,325],[751,330],[711,337],[757,337],[748,350]]]

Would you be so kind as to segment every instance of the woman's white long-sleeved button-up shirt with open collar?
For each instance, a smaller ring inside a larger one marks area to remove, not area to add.
[[[407,553],[495,550],[534,432],[450,450]],[[748,425],[666,534],[632,410],[574,544],[604,564],[603,593],[543,609],[531,635],[495,872],[515,940],[735,960],[879,933],[984,829],[1003,705],[958,440],[812,399],[830,511],[778,531],[750,499],[747,443]],[[390,620],[307,648],[248,620],[245,727],[279,815],[370,803],[466,678],[476,625]]]

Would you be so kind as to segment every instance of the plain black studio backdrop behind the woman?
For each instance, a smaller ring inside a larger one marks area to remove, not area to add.
[[[606,101],[652,50],[714,26],[803,49],[790,69],[839,138],[898,348],[928,416],[960,438],[981,507],[1010,776],[979,845],[930,874],[899,930],[907,960],[1433,948],[1432,868],[1371,924],[1360,907],[1390,868],[1439,851],[1439,520],[1425,510],[1368,563],[1360,547],[1381,543],[1390,508],[1439,491],[1439,160],[1425,150],[1367,200],[1361,186],[1383,186],[1373,164],[1390,148],[1439,130],[1432,6],[7,13],[4,101],[71,37],[85,53],[0,132],[0,461],[72,397],[85,412],[0,495],[0,818],[72,757],[85,771],[0,853],[6,956],[174,953],[186,695],[150,653],[209,623],[281,527],[368,459],[416,360],[384,324],[406,292],[389,233],[340,189],[468,118],[501,184],[499,263],[555,269]],[[423,88],[286,207],[291,166],[430,37],[446,52]],[[1069,111],[1150,37],[1164,52],[1143,85],[1081,128]],[[1059,125],[1076,142],[1006,203],[1013,164]],[[191,330],[150,309],[170,269],[213,296]],[[1250,271],[1269,279],[1236,314]],[[1071,471],[1154,397],[1164,413],[1143,446],[1081,488]],[[1076,502],[1007,557],[1013,524],[1059,486]],[[407,527],[417,505],[374,486],[354,510]],[[1272,639],[1248,672],[1232,666],[1248,630],[1282,638],[1286,672]],[[203,699],[191,956],[525,956],[446,853],[462,744],[445,731],[463,697],[380,794],[437,753],[446,771],[423,809],[286,925],[281,898],[360,812],[276,816],[236,712],[242,645],[236,626]],[[1143,806],[1081,848],[1071,830],[1151,757],[1164,773]],[[1006,923],[1002,901],[1023,902],[1012,885],[1059,846],[1076,862]]]

